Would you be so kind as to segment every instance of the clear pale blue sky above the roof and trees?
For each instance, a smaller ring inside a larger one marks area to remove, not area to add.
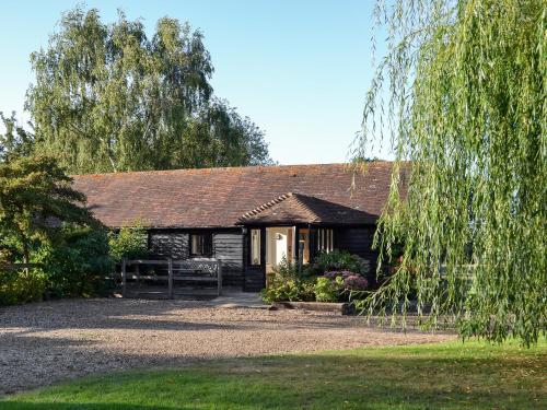
[[[0,0],[0,112],[23,113],[33,82],[30,55],[47,45],[63,11],[79,1]],[[344,162],[361,128],[373,67],[374,0],[344,1],[86,1],[103,22],[117,10],[141,19],[151,35],[158,19],[188,21],[205,36],[214,66],[211,84],[266,132],[280,164]],[[379,42],[381,55],[382,44]],[[368,156],[389,159],[388,149]]]

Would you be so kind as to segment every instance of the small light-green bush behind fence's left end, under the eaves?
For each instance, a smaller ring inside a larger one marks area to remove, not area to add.
[[[124,226],[119,232],[108,234],[110,256],[116,262],[124,258],[140,259],[148,255],[147,231],[139,224]]]

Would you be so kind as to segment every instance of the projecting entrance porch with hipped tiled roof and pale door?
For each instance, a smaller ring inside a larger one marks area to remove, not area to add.
[[[264,289],[268,274],[283,260],[302,266],[312,262],[319,251],[346,245],[338,236],[351,245],[348,230],[370,230],[374,222],[372,215],[358,209],[292,192],[245,213],[240,221],[248,249],[244,289]]]

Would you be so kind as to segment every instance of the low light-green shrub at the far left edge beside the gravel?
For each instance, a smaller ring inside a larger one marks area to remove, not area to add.
[[[40,301],[45,290],[46,278],[39,269],[0,267],[0,306]]]

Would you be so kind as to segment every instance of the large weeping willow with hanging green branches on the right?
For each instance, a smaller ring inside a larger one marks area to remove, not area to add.
[[[393,143],[375,242],[382,260],[399,244],[403,256],[369,313],[404,324],[415,294],[426,326],[526,344],[545,335],[546,13],[543,0],[376,7],[388,51],[357,154]]]

